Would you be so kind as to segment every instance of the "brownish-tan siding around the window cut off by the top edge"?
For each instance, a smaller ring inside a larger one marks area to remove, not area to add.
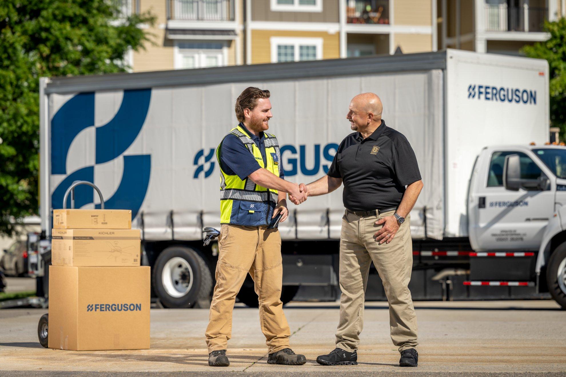
[[[322,12],[272,12],[269,0],[251,0],[251,19],[282,22],[338,22],[338,0],[323,0]]]

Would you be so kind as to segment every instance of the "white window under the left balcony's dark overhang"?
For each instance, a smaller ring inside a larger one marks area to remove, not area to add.
[[[175,68],[207,68],[225,65],[222,42],[177,42]]]

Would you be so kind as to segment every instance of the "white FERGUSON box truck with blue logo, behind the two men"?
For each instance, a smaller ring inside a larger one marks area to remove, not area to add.
[[[352,97],[381,97],[383,119],[408,138],[424,182],[411,212],[415,299],[550,293],[566,306],[566,148],[547,145],[546,61],[445,50],[40,83],[44,238],[71,183],[95,183],[106,208],[132,211],[165,307],[211,296],[218,246],[204,247],[201,232],[220,226],[215,148],[237,125],[234,102],[248,86],[271,91],[269,132],[293,182],[328,172],[351,133]],[[289,203],[279,226],[282,301],[339,297],[341,191]],[[100,207],[86,186],[75,202]],[[375,270],[368,285],[367,299],[384,298]],[[258,305],[250,281],[238,298]]]

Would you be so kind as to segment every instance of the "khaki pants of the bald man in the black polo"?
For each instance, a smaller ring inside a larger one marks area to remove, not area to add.
[[[375,222],[395,211],[379,216],[356,216],[346,212],[340,234],[340,323],[336,346],[348,352],[358,349],[363,328],[363,305],[367,275],[373,261],[383,281],[389,301],[391,340],[399,352],[417,347],[417,318],[409,292],[413,268],[410,218],[400,226],[390,243],[376,242],[374,234],[381,225]]]

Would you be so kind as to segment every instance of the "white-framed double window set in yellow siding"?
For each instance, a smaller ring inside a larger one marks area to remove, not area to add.
[[[322,59],[322,38],[271,37],[271,62],[298,62]]]

